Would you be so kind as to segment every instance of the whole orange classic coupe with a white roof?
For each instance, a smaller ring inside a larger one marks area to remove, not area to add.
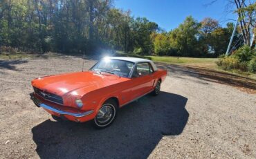
[[[33,79],[30,97],[55,120],[93,120],[104,128],[120,107],[148,93],[158,95],[166,75],[148,59],[105,57],[86,72]]]

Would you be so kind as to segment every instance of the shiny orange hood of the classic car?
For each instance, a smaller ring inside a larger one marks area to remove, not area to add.
[[[95,73],[93,71],[67,73],[62,75],[51,75],[46,77],[39,77],[32,81],[33,86],[63,96],[67,93],[74,92],[75,95],[82,96],[85,93],[94,91],[98,88],[116,84],[128,80],[125,77],[111,75],[108,73]],[[79,88],[84,88],[83,92],[75,92]]]

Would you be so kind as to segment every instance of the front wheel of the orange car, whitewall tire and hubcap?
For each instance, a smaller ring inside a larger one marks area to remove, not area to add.
[[[109,127],[116,119],[118,104],[114,100],[107,100],[100,107],[97,115],[93,119],[93,125],[97,129]]]

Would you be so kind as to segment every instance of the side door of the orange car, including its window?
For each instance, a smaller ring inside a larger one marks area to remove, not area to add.
[[[152,66],[148,62],[136,64],[132,75],[133,96],[140,97],[152,91],[153,87]]]

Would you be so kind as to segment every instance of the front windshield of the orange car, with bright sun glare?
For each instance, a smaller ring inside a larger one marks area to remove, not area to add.
[[[122,77],[129,77],[131,69],[134,63],[122,61],[119,59],[102,59],[100,62],[95,64],[90,70],[104,73],[111,73]]]

